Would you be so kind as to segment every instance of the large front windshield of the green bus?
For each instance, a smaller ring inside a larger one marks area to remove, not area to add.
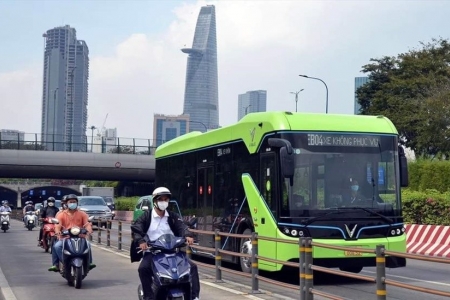
[[[292,187],[284,180],[280,218],[358,209],[400,215],[397,136],[292,132],[281,138],[293,147],[295,174]]]

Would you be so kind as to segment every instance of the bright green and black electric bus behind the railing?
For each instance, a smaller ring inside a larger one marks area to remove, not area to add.
[[[400,187],[405,152],[383,116],[251,113],[234,125],[191,132],[156,150],[156,186],[168,187],[197,229],[330,245],[406,251]],[[200,246],[214,237],[198,235]],[[249,240],[222,238],[222,249],[251,253]],[[298,246],[259,240],[259,255],[298,262]],[[207,253],[200,253],[209,255]],[[374,255],[313,248],[314,264],[358,273]],[[250,272],[246,258],[223,256]],[[388,267],[403,258],[387,257]],[[260,260],[259,268],[282,264]]]

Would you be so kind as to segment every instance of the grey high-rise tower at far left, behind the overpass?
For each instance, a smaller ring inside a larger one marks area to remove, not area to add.
[[[43,37],[42,143],[49,150],[86,151],[89,49],[69,25]]]

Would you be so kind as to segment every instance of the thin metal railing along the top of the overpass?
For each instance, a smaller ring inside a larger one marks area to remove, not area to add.
[[[164,142],[124,137],[0,132],[0,149],[13,150],[154,155],[156,147]]]

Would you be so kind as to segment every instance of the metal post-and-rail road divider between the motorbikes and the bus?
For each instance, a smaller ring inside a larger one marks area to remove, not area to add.
[[[13,217],[16,219],[21,220],[22,214],[21,213],[15,213],[13,214]],[[106,246],[111,247],[111,221],[107,221],[106,229],[101,228],[102,220],[99,219],[96,222],[94,222],[94,225],[98,226],[97,230],[97,236],[94,240],[94,237],[92,235],[89,236],[89,240],[92,242],[96,242],[97,244],[103,244],[104,240],[103,233],[105,231],[106,233]],[[118,250],[129,250],[124,249],[124,245],[122,243],[122,236],[123,236],[123,228],[122,228],[122,222],[118,221],[118,228],[117,228],[117,249]],[[236,274],[239,276],[244,276],[247,278],[251,278],[251,290],[252,293],[259,293],[259,281],[264,281],[267,283],[271,283],[274,285],[286,287],[293,290],[298,290],[300,295],[300,300],[313,300],[314,295],[321,296],[328,299],[334,299],[334,300],[341,300],[343,298],[332,295],[323,291],[319,291],[314,288],[313,280],[314,271],[316,272],[323,272],[328,274],[334,274],[349,278],[355,278],[359,280],[365,280],[368,282],[373,282],[376,284],[376,289],[374,291],[374,299],[377,300],[385,300],[387,299],[387,291],[386,286],[396,286],[399,288],[406,288],[422,293],[428,293],[428,294],[434,294],[438,296],[445,296],[450,297],[450,292],[435,290],[435,289],[429,289],[429,288],[422,288],[415,285],[391,280],[386,278],[386,256],[394,256],[394,257],[402,257],[402,258],[408,258],[408,259],[415,259],[415,260],[423,260],[428,262],[436,262],[436,263],[444,263],[444,264],[450,264],[450,259],[448,258],[440,258],[440,257],[430,257],[425,256],[421,254],[410,254],[410,253],[403,253],[403,252],[396,252],[396,251],[389,251],[386,250],[384,245],[377,245],[375,249],[369,249],[369,248],[356,248],[356,247],[347,247],[347,246],[336,246],[336,245],[328,245],[323,243],[317,243],[312,240],[312,238],[299,238],[298,240],[284,240],[284,239],[277,239],[277,238],[271,238],[271,237],[264,237],[264,236],[258,236],[257,233],[253,232],[251,235],[243,235],[243,234],[232,234],[232,233],[225,233],[220,232],[219,230],[216,231],[203,231],[203,230],[195,230],[195,229],[189,229],[191,232],[196,234],[204,234],[204,235],[211,235],[214,236],[215,245],[214,248],[212,247],[203,247],[198,245],[193,245],[191,248],[194,250],[199,250],[207,253],[211,253],[212,256],[215,259],[215,265],[209,265],[201,262],[196,262],[198,265],[206,267],[206,268],[214,268],[215,269],[215,279],[217,282],[222,281],[222,272],[228,272],[231,274]],[[237,253],[233,251],[228,251],[221,249],[221,237],[234,237],[239,239],[250,239],[252,243],[252,253],[251,254],[244,254],[244,253]],[[296,244],[299,246],[299,263],[294,262],[286,262],[286,261],[280,261],[264,256],[260,256],[258,254],[258,241],[259,240],[265,240],[265,241],[272,241],[272,242],[278,242],[278,243],[287,243],[287,244]],[[330,269],[326,267],[316,266],[313,264],[313,247],[320,247],[320,248],[327,248],[327,249],[334,249],[334,250],[342,250],[342,251],[352,251],[355,253],[369,253],[374,254],[375,262],[376,262],[376,275],[374,277],[372,276],[366,276],[366,275],[360,275],[355,274],[351,272],[346,271],[340,271],[336,269]],[[186,249],[186,253],[189,257],[192,256],[192,250],[190,248]],[[251,260],[251,274],[250,273],[243,273],[236,270],[231,270],[228,268],[222,267],[222,255],[230,255],[230,256],[237,256],[237,257],[244,257]],[[272,280],[263,276],[259,275],[259,269],[258,269],[258,262],[260,260],[268,261],[272,263],[282,264],[284,266],[289,267],[295,267],[299,270],[299,277],[300,277],[300,284],[299,285],[292,285],[284,282],[279,282],[276,280]]]

